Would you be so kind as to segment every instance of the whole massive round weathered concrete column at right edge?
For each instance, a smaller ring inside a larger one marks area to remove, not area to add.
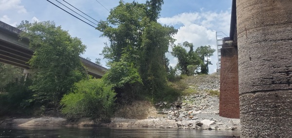
[[[292,137],[292,0],[237,0],[240,138]]]

